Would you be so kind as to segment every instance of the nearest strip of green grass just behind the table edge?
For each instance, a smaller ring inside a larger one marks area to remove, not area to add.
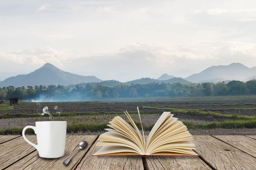
[[[128,122],[131,124],[130,122]],[[256,120],[235,120],[235,121],[223,121],[223,122],[210,122],[210,123],[201,123],[193,124],[192,122],[183,122],[184,125],[190,129],[237,129],[237,128],[256,128]],[[104,131],[105,128],[108,128],[109,123],[73,123],[67,125],[67,133],[79,133],[79,132],[100,132]],[[137,127],[141,129],[140,122],[135,122]],[[152,129],[154,124],[144,126],[145,131]],[[0,135],[21,135],[24,127],[10,127],[8,129],[0,130]],[[26,130],[26,134],[34,135],[32,129]]]

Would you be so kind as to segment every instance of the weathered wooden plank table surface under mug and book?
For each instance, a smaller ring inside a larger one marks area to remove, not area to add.
[[[0,170],[256,170],[256,136],[193,136],[197,156],[91,156],[99,136],[67,136],[65,156],[44,159],[22,136],[0,136]],[[27,136],[36,143],[36,136]],[[88,145],[62,162],[82,140]]]

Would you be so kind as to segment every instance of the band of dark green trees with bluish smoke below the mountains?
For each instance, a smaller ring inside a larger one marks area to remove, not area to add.
[[[256,94],[256,79],[247,82],[231,81],[202,84],[149,83],[119,84],[113,87],[90,84],[74,88],[63,85],[35,85],[27,87],[9,86],[0,88],[0,99],[19,97],[20,99],[87,99],[87,98],[122,98],[153,96],[224,96]]]

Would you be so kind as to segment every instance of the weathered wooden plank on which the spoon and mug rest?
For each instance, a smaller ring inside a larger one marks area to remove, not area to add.
[[[38,152],[35,151],[8,167],[7,170],[70,170],[79,164],[82,157],[97,137],[98,136],[67,136],[65,156],[58,159],[44,159],[40,158]],[[72,157],[68,166],[64,166],[62,162],[76,150],[77,144],[83,140],[88,143],[87,147],[83,150],[79,150],[79,152]]]

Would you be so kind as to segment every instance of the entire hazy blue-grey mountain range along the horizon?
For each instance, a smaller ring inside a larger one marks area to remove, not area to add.
[[[192,74],[185,79],[178,78],[172,75],[163,74],[158,79],[151,78],[141,78],[132,80],[129,82],[119,82],[116,80],[106,80],[95,76],[81,76],[78,74],[72,74],[55,67],[52,64],[46,63],[41,68],[33,71],[29,74],[21,74],[15,77],[9,77],[3,81],[0,81],[0,87],[6,87],[13,85],[15,87],[21,87],[28,85],[70,85],[71,87],[76,84],[79,86],[84,86],[90,84],[92,86],[96,85],[108,85],[114,86],[120,83],[125,83],[127,85],[133,84],[148,84],[148,83],[175,83],[180,82],[182,84],[189,84],[192,82],[203,83],[203,82],[229,82],[231,80],[247,81],[252,79],[256,75],[256,67],[248,68],[241,63],[232,63],[230,65],[218,65],[211,66],[204,71],[197,74]]]

